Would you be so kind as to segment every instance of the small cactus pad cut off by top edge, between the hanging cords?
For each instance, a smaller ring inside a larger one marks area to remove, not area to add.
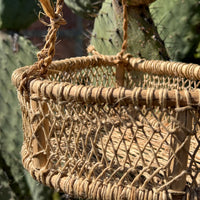
[[[94,17],[104,0],[64,0],[66,5],[76,14],[84,17]]]

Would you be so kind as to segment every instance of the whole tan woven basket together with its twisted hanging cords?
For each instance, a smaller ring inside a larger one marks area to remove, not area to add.
[[[126,1],[117,55],[52,62],[63,1],[40,2],[46,44],[12,75],[32,177],[81,199],[200,199],[200,66],[125,54]]]

